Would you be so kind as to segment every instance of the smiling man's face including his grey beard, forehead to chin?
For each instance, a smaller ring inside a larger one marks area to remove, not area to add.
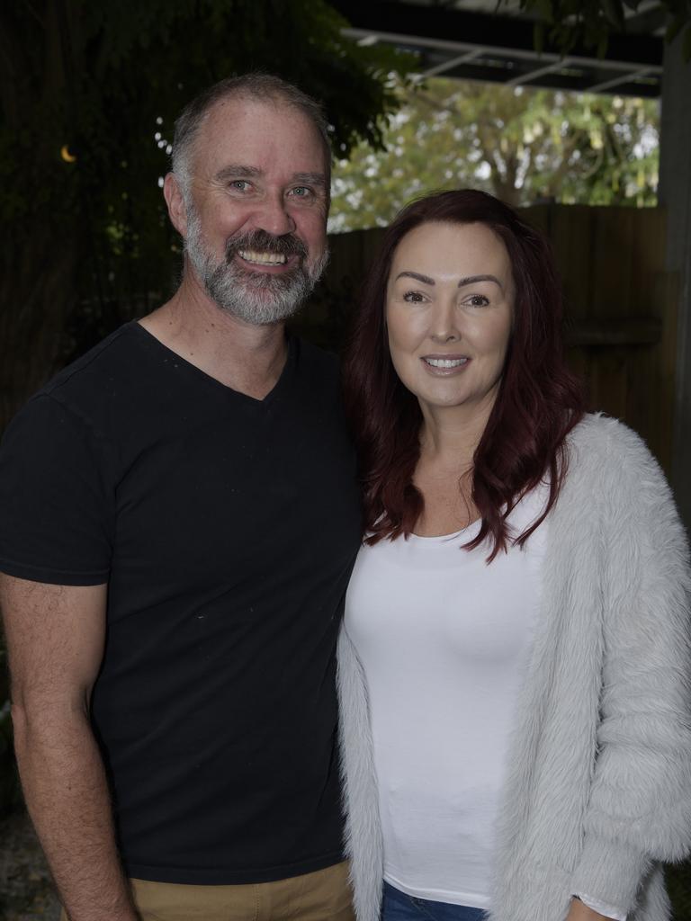
[[[217,103],[194,142],[185,251],[221,309],[285,320],[326,264],[328,190],[319,135],[298,109]]]

